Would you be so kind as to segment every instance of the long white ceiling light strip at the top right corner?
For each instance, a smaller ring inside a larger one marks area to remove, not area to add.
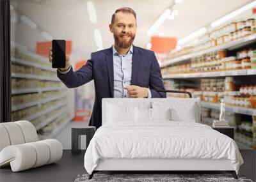
[[[238,10],[233,11],[232,13],[229,13],[229,14],[225,15],[221,19],[215,20],[214,22],[211,23],[211,26],[212,27],[220,26],[224,22],[227,22],[227,20],[230,20],[233,17],[236,17],[240,13],[243,13],[244,11],[249,10],[250,8],[253,8],[254,6],[256,6],[256,1],[253,1],[252,3],[246,4],[245,6],[239,8]]]

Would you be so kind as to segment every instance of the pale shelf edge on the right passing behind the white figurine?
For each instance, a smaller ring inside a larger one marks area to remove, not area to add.
[[[220,103],[201,102],[201,106],[209,109],[220,109]],[[225,105],[225,109],[229,112],[234,112],[238,114],[246,114],[250,116],[256,115],[256,109],[252,108]]]

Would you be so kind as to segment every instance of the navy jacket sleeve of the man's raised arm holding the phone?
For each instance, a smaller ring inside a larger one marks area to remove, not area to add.
[[[72,67],[67,73],[61,73],[57,70],[57,75],[68,88],[79,87],[93,80],[93,60],[89,59],[87,63],[76,72],[73,71]]]

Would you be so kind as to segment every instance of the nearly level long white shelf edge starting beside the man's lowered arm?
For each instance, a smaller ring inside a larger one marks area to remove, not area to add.
[[[243,76],[243,75],[256,75],[256,69],[228,70],[223,72],[168,74],[168,75],[163,75],[163,79],[226,77],[226,76]]]

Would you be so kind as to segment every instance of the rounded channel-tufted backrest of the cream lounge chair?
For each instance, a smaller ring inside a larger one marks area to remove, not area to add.
[[[0,151],[6,146],[36,142],[36,129],[29,121],[0,123]]]

